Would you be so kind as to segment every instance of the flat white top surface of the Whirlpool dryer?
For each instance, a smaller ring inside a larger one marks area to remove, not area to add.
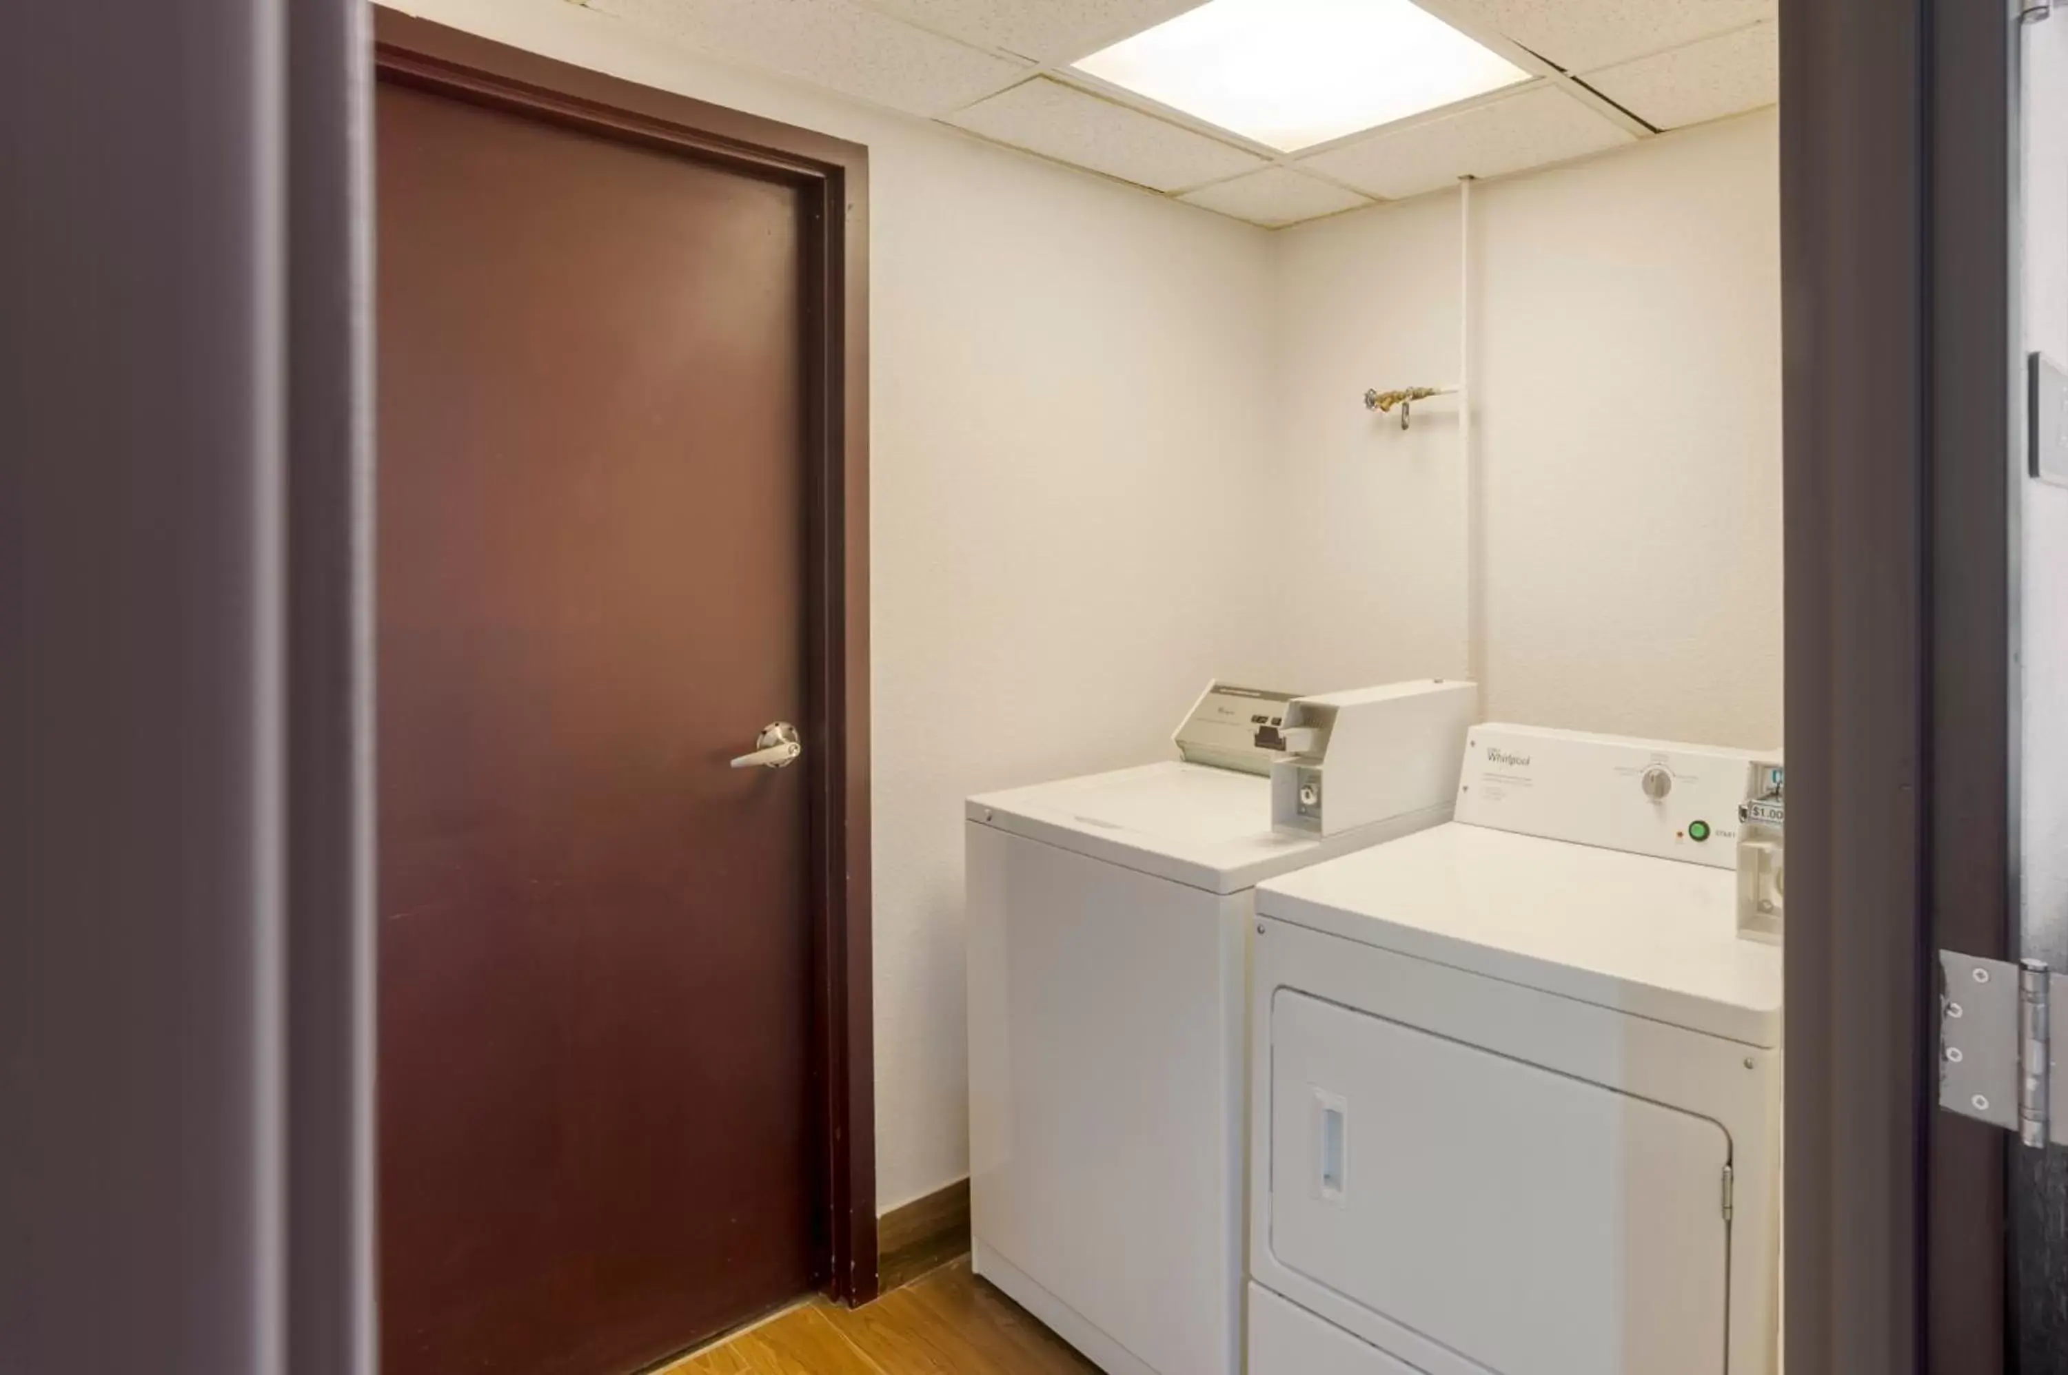
[[[1731,870],[1446,823],[1257,887],[1257,914],[1750,1046],[1781,1044],[1781,949]]]

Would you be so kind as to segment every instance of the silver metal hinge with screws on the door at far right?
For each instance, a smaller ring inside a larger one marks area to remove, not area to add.
[[[2051,1009],[2068,978],[2039,959],[1940,951],[1940,1108],[2068,1145],[2068,1063],[2054,1059]]]

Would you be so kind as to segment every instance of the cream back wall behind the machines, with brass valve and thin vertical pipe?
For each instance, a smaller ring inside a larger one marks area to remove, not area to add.
[[[1781,740],[1781,209],[1772,110],[1472,192],[1485,709]],[[1458,196],[1278,236],[1299,682],[1462,672]],[[1297,591],[1295,591],[1297,589]]]

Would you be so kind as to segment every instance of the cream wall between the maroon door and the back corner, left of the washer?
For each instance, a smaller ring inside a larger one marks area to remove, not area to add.
[[[1162,757],[1268,676],[1261,230],[565,0],[397,8],[869,145],[879,1205],[968,1172],[962,798]]]

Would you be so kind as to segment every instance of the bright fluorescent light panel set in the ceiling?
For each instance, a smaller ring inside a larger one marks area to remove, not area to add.
[[[1280,153],[1528,81],[1408,0],[1210,0],[1075,66]]]

